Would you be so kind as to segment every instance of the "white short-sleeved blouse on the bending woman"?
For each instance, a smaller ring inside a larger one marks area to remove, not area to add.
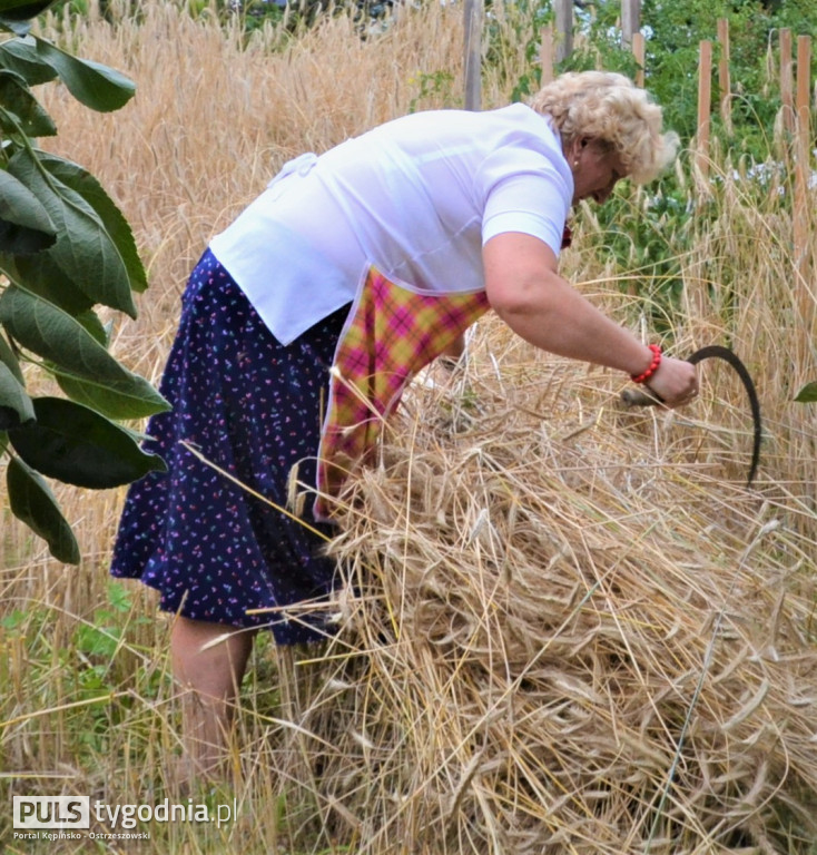
[[[559,255],[573,195],[547,118],[516,104],[386,122],[291,160],[210,249],[288,344],[355,298],[370,266],[417,292],[484,289],[504,232]]]

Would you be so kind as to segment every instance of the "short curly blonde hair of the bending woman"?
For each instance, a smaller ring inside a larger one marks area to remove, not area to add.
[[[569,71],[545,83],[530,107],[552,119],[565,148],[577,138],[611,146],[637,184],[660,175],[678,151],[678,135],[661,131],[661,108],[623,75]]]

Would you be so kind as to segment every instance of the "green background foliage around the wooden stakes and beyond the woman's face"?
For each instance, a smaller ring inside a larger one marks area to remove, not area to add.
[[[541,26],[552,22],[552,0],[520,0],[535,27],[526,56],[534,71],[509,81],[512,97],[522,99],[539,87],[535,65]],[[514,9],[519,3],[514,3]],[[574,8],[574,49],[555,71],[604,68],[634,78],[638,66],[632,51],[622,45],[620,0],[577,0]],[[718,21],[729,23],[729,68],[731,78],[730,128],[718,109]],[[708,205],[691,191],[688,147],[698,124],[700,42],[713,48],[712,110],[710,134],[722,164],[740,169],[750,180],[746,194],[768,193],[769,181],[780,177],[780,87],[779,31],[787,27],[793,37],[817,32],[817,3],[814,0],[642,0],[641,32],[644,36],[644,86],[662,106],[665,122],[681,138],[679,169],[670,171],[649,188],[617,191],[594,212],[594,227],[585,245],[607,257],[614,257],[626,272],[623,287],[648,298],[656,328],[673,327],[685,253],[702,229],[718,216],[718,207]],[[814,75],[817,53],[813,52]],[[785,138],[782,139],[785,144]],[[683,177],[686,176],[686,178]],[[713,178],[715,181],[718,178]],[[791,194],[780,197],[790,204]],[[721,283],[728,288],[728,283]],[[798,400],[816,394],[804,390]]]

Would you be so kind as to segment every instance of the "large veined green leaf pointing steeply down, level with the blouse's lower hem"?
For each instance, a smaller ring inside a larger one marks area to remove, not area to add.
[[[9,160],[9,171],[48,212],[58,235],[48,253],[66,276],[95,303],[136,317],[128,269],[93,208],[62,181],[43,175],[28,150]]]

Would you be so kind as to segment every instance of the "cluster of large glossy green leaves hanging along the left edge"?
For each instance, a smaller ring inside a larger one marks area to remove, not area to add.
[[[108,352],[98,306],[136,316],[147,287],[126,219],[99,181],[37,147],[57,128],[32,87],[60,80],[92,110],[122,107],[135,91],[119,72],[78,59],[31,33],[49,0],[0,0],[0,454],[12,513],[79,561],[79,547],[47,479],[91,489],[135,481],[163,461],[118,421],[168,409]],[[65,397],[29,395],[30,372]]]

